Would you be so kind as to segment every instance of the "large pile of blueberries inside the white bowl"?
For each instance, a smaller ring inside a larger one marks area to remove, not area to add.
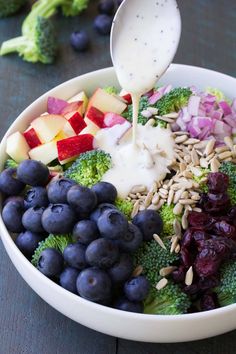
[[[63,254],[44,249],[37,268],[65,289],[93,302],[142,312],[149,283],[132,277],[132,253],[162,227],[158,213],[139,212],[132,223],[113,204],[116,188],[99,182],[91,189],[63,176],[50,180],[47,166],[34,160],[0,174],[6,196],[3,221],[30,260],[48,234],[72,234]]]

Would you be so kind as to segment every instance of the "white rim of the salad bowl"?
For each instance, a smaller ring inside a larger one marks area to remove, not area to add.
[[[227,74],[223,74],[214,70],[210,70],[210,69],[206,69],[206,68],[202,68],[202,67],[198,67],[198,66],[191,66],[191,65],[184,65],[184,64],[171,64],[169,70],[178,70],[178,68],[182,68],[185,70],[194,70],[194,71],[202,71],[203,73],[207,73],[207,72],[211,72],[212,74],[217,74],[219,76],[221,76],[222,79],[227,79],[227,80],[233,80],[233,82],[236,82],[236,78],[227,75]],[[0,143],[0,147],[2,147],[2,145],[5,144],[5,140],[9,134],[9,132],[14,129],[15,124],[17,124],[21,119],[23,119],[24,115],[27,114],[28,110],[30,110],[32,107],[34,107],[36,104],[40,103],[40,101],[46,99],[51,92],[53,92],[55,89],[60,89],[65,85],[70,85],[73,82],[76,82],[78,79],[83,79],[83,78],[89,78],[90,76],[93,75],[101,75],[104,73],[114,73],[114,68],[113,67],[108,67],[108,68],[104,68],[104,69],[99,69],[99,70],[95,70],[95,71],[91,71],[89,73],[83,74],[83,75],[79,75],[77,77],[74,77],[72,79],[69,79],[57,86],[55,86],[54,88],[50,89],[49,91],[45,92],[44,94],[42,94],[40,97],[38,97],[36,100],[34,100],[29,106],[27,106],[20,114],[19,116],[14,120],[14,122],[10,125],[10,127],[8,128],[8,130],[6,131],[6,133],[4,134],[4,137],[1,140]],[[69,98],[69,97],[68,97]],[[0,208],[2,207],[2,202],[0,202]],[[73,300],[74,302],[77,302],[78,305],[87,305],[97,311],[100,312],[104,312],[107,315],[115,315],[117,317],[119,317],[121,320],[125,320],[126,318],[129,319],[133,319],[133,320],[141,320],[143,319],[144,321],[151,321],[153,323],[155,322],[160,322],[160,321],[164,321],[164,322],[169,322],[169,321],[181,321],[182,322],[188,322],[191,320],[203,320],[203,319],[209,319],[209,318],[214,318],[217,316],[220,316],[222,314],[226,315],[227,313],[231,312],[233,309],[236,309],[236,303],[235,304],[231,304],[228,306],[224,306],[221,308],[217,308],[214,310],[210,310],[210,311],[203,311],[203,312],[197,312],[197,313],[187,313],[187,314],[181,314],[181,315],[149,315],[149,314],[140,314],[140,313],[132,313],[132,312],[127,312],[127,311],[121,311],[121,310],[117,310],[108,306],[104,306],[104,305],[100,305],[94,302],[91,302],[89,300],[86,300],[82,297],[80,297],[79,295],[73,294],[71,292],[69,292],[68,290],[62,288],[60,285],[56,284],[55,282],[53,282],[52,280],[50,280],[49,278],[47,278],[45,275],[43,275],[42,273],[40,273],[36,267],[33,266],[33,264],[23,255],[23,253],[21,253],[21,251],[18,249],[18,247],[16,246],[15,242],[13,241],[10,233],[8,232],[3,220],[2,220],[2,216],[0,215],[0,236],[1,239],[3,241],[4,247],[5,247],[5,243],[8,244],[9,247],[12,248],[12,250],[17,254],[17,256],[20,258],[20,261],[22,262],[22,266],[26,268],[27,272],[31,272],[31,274],[34,277],[38,278],[38,281],[40,281],[42,283],[42,285],[44,285],[47,289],[50,289],[53,292],[59,293],[60,295],[63,295],[65,298],[67,297],[67,299],[70,301]],[[6,249],[6,247],[5,247]],[[15,266],[15,264],[14,264]],[[15,266],[16,267],[16,266]],[[18,271],[18,270],[17,270]],[[18,271],[20,273],[20,271]],[[21,273],[20,273],[21,275]],[[21,275],[22,276],[22,275]],[[36,292],[34,290],[34,292]],[[40,296],[40,295],[39,295]],[[46,300],[45,300],[46,301]],[[47,302],[47,301],[46,301]],[[53,306],[53,305],[52,305]],[[60,310],[58,310],[59,312],[62,312]]]

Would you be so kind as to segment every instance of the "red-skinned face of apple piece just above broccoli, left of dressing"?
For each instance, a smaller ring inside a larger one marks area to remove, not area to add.
[[[57,141],[59,161],[78,156],[89,150],[93,150],[93,140],[93,135],[81,134]]]

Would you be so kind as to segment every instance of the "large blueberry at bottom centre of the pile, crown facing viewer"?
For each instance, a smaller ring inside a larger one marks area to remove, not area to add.
[[[93,302],[105,303],[111,298],[111,279],[102,269],[82,270],[77,278],[76,287],[81,297]]]

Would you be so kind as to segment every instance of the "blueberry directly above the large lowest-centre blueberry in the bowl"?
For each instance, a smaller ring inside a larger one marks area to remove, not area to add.
[[[119,248],[111,240],[98,238],[88,245],[85,256],[91,266],[107,269],[118,261]]]

